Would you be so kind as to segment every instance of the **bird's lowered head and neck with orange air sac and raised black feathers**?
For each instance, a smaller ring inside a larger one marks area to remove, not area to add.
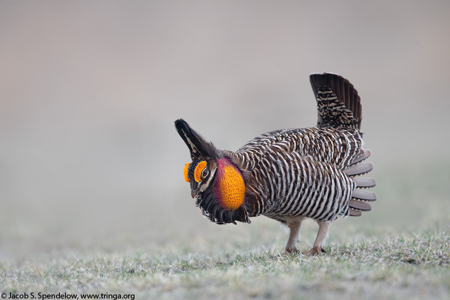
[[[243,207],[245,182],[240,170],[217,149],[196,133],[183,119],[175,121],[178,134],[190,151],[192,162],[184,165],[184,180],[203,215],[218,224],[249,222]]]

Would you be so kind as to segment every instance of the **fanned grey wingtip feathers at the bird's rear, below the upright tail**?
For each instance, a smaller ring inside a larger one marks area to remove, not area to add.
[[[350,163],[344,169],[344,172],[356,183],[356,187],[351,192],[351,199],[348,201],[349,215],[359,216],[362,211],[369,211],[371,209],[368,202],[376,200],[374,192],[366,191],[366,188],[375,186],[375,179],[370,177],[357,177],[370,172],[373,168],[373,163],[364,162],[370,156],[369,149],[361,149]]]

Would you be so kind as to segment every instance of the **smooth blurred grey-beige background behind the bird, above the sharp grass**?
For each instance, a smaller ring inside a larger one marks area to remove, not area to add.
[[[173,121],[230,150],[313,126],[312,72],[358,90],[377,179],[372,211],[336,221],[330,243],[448,221],[449,13],[447,0],[0,1],[0,259],[282,249],[266,217],[201,217]]]

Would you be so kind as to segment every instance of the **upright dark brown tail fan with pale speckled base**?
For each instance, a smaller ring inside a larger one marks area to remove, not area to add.
[[[317,127],[361,128],[361,99],[350,81],[333,73],[313,73],[309,80],[317,100]]]

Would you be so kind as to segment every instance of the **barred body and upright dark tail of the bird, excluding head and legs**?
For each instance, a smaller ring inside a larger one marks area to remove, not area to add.
[[[346,172],[370,154],[362,149],[360,98],[341,76],[310,78],[317,99],[316,127],[267,132],[230,153],[248,171],[245,205],[250,216],[320,221],[370,208],[351,194],[357,186],[352,177],[369,171],[371,163]]]

